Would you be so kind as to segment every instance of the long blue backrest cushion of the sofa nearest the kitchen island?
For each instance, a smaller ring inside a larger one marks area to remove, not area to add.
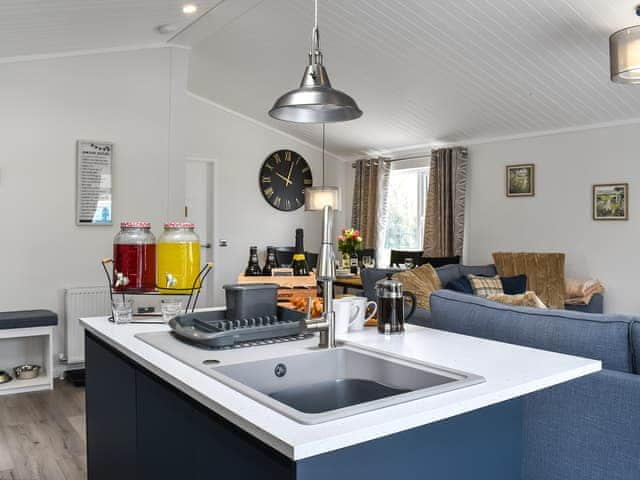
[[[632,372],[630,330],[638,317],[512,307],[439,290],[431,295],[433,328],[601,360]]]

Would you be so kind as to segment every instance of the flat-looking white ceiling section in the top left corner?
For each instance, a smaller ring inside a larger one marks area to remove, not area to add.
[[[0,0],[0,58],[163,43],[157,26],[186,27],[218,1]]]

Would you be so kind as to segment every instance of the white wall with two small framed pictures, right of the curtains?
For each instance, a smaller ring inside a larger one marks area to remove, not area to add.
[[[640,125],[469,147],[466,263],[494,251],[566,253],[566,275],[597,277],[609,312],[640,311]],[[536,165],[535,197],[507,198],[505,166]],[[593,221],[596,183],[630,184],[629,221]]]

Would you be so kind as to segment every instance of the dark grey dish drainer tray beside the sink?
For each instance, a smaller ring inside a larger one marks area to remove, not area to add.
[[[276,315],[228,319],[226,310],[178,315],[169,321],[174,335],[208,348],[228,348],[303,333],[305,314],[278,307]]]

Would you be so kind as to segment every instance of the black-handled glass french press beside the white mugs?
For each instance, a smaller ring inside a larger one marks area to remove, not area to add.
[[[402,282],[387,278],[376,282],[376,295],[378,297],[378,332],[402,333],[406,322],[416,311],[416,296],[411,292],[403,292]],[[409,314],[405,316],[405,298],[411,299]]]

